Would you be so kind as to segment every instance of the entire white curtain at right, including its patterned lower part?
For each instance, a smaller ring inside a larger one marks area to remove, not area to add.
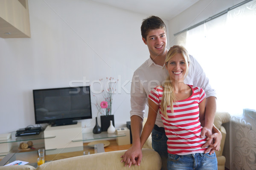
[[[226,167],[255,170],[256,0],[181,37],[180,41],[177,37],[177,43],[185,45],[198,60],[216,90],[217,110],[232,115],[226,127]]]

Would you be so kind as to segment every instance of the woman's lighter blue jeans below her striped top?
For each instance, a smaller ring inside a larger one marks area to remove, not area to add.
[[[189,155],[168,154],[168,170],[217,170],[215,153],[194,153]]]

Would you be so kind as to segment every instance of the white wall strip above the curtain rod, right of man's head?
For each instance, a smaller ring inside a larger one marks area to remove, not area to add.
[[[244,0],[199,0],[176,17],[169,20],[169,45],[176,45],[174,34],[193,26]]]

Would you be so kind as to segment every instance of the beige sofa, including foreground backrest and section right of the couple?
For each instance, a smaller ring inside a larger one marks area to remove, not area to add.
[[[230,115],[228,113],[217,112],[215,115],[214,125],[222,133],[221,148],[219,151],[216,151],[218,170],[225,169],[226,161],[225,157],[222,156],[226,130],[221,125],[222,123],[229,122],[229,120]],[[37,168],[29,165],[15,165],[0,167],[0,170],[160,170],[161,158],[151,148],[151,137],[149,137],[143,147],[143,159],[140,166],[131,166],[130,168],[124,167],[124,163],[120,163],[120,156],[125,153],[125,150],[121,150],[60,159],[47,162]]]

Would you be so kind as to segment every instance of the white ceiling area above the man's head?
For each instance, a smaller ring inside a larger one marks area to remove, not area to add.
[[[128,11],[171,20],[199,0],[90,0]]]

